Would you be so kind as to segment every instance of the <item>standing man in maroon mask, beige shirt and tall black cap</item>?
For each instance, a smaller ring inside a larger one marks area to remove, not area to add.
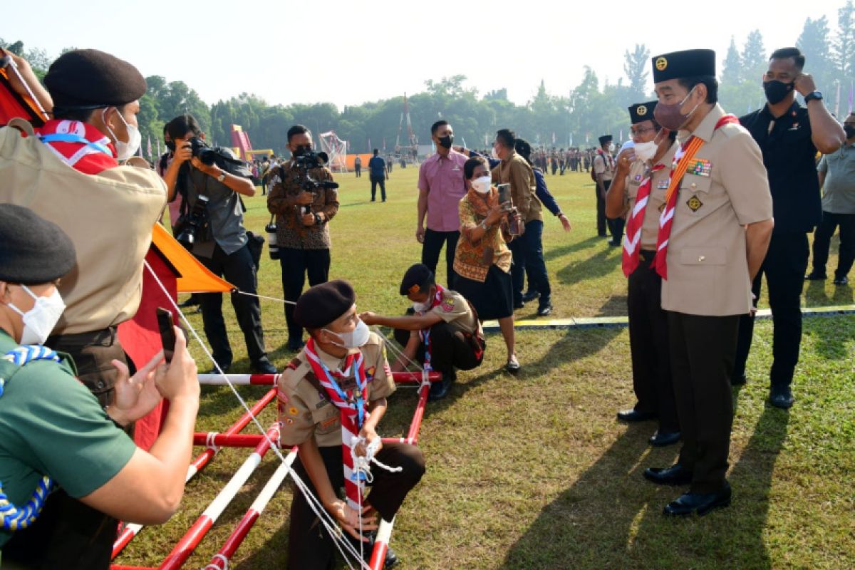
[[[671,373],[683,446],[676,464],[649,468],[660,485],[691,485],[664,514],[706,514],[730,504],[730,373],[751,279],[769,247],[772,200],[757,143],[717,104],[716,54],[652,59],[654,118],[683,131],[660,220],[654,266],[668,311]]]

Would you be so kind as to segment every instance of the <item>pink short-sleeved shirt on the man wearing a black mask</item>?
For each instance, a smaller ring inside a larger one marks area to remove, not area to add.
[[[431,156],[419,167],[419,190],[428,192],[428,229],[434,232],[460,230],[460,198],[466,196],[463,163],[468,156],[450,150],[448,156]]]

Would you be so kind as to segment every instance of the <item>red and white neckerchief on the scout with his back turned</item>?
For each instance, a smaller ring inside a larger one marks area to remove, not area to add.
[[[110,139],[80,120],[51,119],[38,129],[38,138],[62,162],[84,174],[119,166]]]

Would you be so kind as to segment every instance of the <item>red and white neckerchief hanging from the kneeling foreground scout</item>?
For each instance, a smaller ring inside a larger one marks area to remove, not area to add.
[[[341,456],[342,468],[345,473],[345,495],[347,505],[362,511],[363,494],[365,490],[364,473],[358,475],[353,469],[353,456],[351,454],[353,442],[359,437],[365,423],[366,403],[368,398],[368,379],[365,376],[365,366],[362,350],[347,355],[345,358],[345,369],[335,368],[330,370],[315,351],[315,339],[310,338],[304,349],[309,358],[312,372],[323,386],[329,401],[339,408],[341,420]],[[351,390],[342,390],[336,379],[353,379],[356,385]]]

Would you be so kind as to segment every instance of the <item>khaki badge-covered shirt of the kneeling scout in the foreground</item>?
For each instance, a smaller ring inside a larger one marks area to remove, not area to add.
[[[315,345],[316,346],[316,345]],[[341,369],[345,359],[328,355],[315,348],[321,362],[329,368]],[[380,400],[395,391],[392,371],[386,361],[386,347],[376,332],[362,348],[351,349],[348,354],[362,350],[365,376],[368,380],[368,399]],[[354,381],[351,376],[350,381]],[[349,386],[341,386],[347,390]],[[277,392],[277,408],[281,426],[282,444],[299,445],[315,436],[318,447],[341,445],[341,412],[329,401],[326,391],[316,382],[315,373],[304,351],[288,364],[280,375]]]

